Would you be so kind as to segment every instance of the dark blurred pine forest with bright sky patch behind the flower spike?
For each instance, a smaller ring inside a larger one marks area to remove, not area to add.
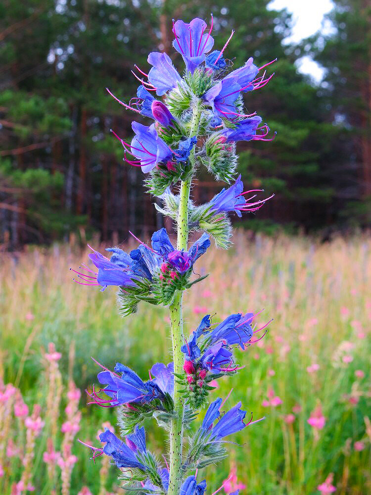
[[[0,5],[0,236],[6,248],[98,232],[103,241],[161,225],[142,174],[122,162],[129,101],[149,51],[172,50],[171,19],[214,14],[215,47],[253,56],[272,81],[247,94],[277,137],[239,145],[246,183],[276,197],[246,217],[251,230],[370,226],[371,13],[367,0],[3,0]],[[145,122],[145,120],[143,120]],[[203,170],[197,201],[222,187]],[[241,224],[240,224],[241,225]],[[116,241],[117,242],[117,241]]]

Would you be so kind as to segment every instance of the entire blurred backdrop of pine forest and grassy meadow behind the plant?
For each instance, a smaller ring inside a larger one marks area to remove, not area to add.
[[[95,248],[131,249],[162,226],[143,175],[122,161],[137,63],[171,48],[172,18],[214,14],[215,48],[275,76],[246,95],[277,136],[239,143],[245,185],[276,193],[235,222],[233,247],[199,261],[185,335],[207,313],[264,311],[267,335],[236,350],[243,370],[210,399],[266,421],[231,437],[200,471],[209,494],[371,494],[371,5],[367,0],[2,0],[0,2],[0,493],[123,494],[99,445],[115,411],[87,405],[99,366],[142,379],[169,362],[166,308],[122,318],[115,290],[72,282]],[[143,123],[147,123],[145,119]],[[204,170],[193,196],[217,184]],[[167,224],[171,233],[171,224]],[[238,227],[238,228],[237,228]],[[121,244],[124,243],[124,244]],[[143,339],[145,336],[145,339]],[[202,416],[201,412],[201,416]],[[197,422],[195,422],[198,424]],[[164,437],[145,424],[148,444]],[[193,427],[192,427],[193,428]],[[160,457],[161,458],[161,457]]]

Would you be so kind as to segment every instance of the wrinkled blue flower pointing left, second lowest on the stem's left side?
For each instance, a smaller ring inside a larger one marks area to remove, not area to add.
[[[111,397],[111,400],[104,400],[93,390],[91,396],[93,397],[93,401],[98,405],[114,407],[130,402],[145,403],[164,397],[162,390],[156,383],[153,381],[143,382],[137,373],[127,366],[116,363],[114,371],[113,373],[112,371],[105,370],[98,373],[99,383],[107,384],[103,392]]]

